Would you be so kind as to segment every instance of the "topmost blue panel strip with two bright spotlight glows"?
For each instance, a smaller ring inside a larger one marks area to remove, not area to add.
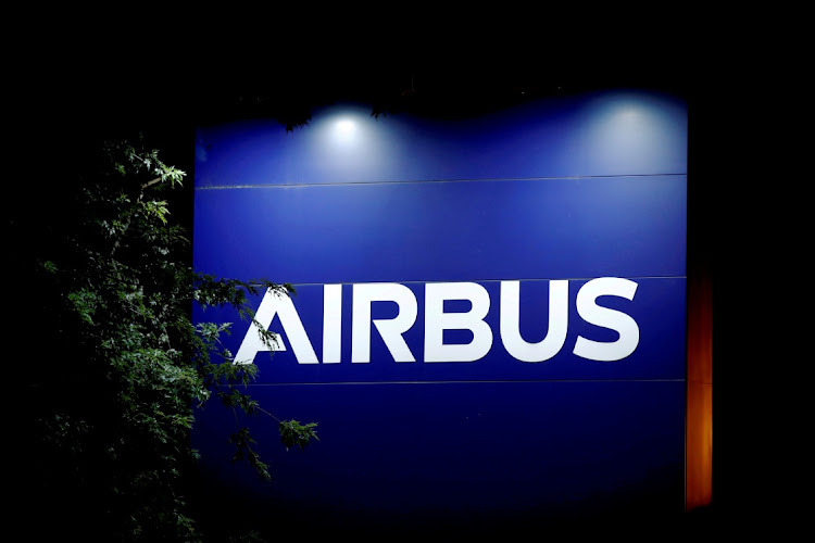
[[[622,91],[463,121],[338,104],[291,132],[271,119],[199,129],[196,187],[687,174],[687,131],[682,102]]]

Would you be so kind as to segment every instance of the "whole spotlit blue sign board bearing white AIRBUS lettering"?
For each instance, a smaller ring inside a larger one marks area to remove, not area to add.
[[[274,345],[230,311],[193,316],[234,323],[252,396],[321,437],[287,452],[249,421],[263,485],[228,462],[234,415],[208,406],[213,484],[325,526],[681,512],[685,104],[313,118],[197,134],[196,269],[297,293],[252,299]]]

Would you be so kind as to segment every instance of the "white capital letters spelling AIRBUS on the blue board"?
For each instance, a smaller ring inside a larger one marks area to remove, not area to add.
[[[566,341],[568,329],[568,280],[550,281],[548,315],[540,320],[549,323],[544,339],[528,342],[521,334],[521,281],[501,281],[500,337],[503,346],[522,362],[543,362],[557,354]],[[573,353],[591,361],[613,362],[630,355],[639,344],[639,327],[627,314],[598,305],[597,299],[613,295],[634,300],[637,283],[617,277],[602,277],[585,283],[577,293],[577,313],[589,324],[617,332],[611,342],[598,342],[578,336]],[[324,287],[323,364],[341,361],[340,285]],[[467,312],[444,312],[444,302],[457,300],[469,303]],[[351,363],[371,362],[371,304],[393,302],[398,314],[390,319],[373,319],[388,352],[394,362],[416,362],[414,353],[402,334],[416,323],[417,302],[413,291],[400,283],[358,283],[353,286],[353,318],[351,334]],[[474,362],[482,358],[492,348],[493,332],[484,318],[490,310],[487,290],[476,282],[441,282],[425,285],[424,362]],[[290,298],[267,291],[255,318],[266,329],[274,317],[280,319],[284,331],[299,364],[318,364],[309,334]],[[468,343],[444,343],[444,330],[467,330]],[[279,336],[267,344],[253,324],[246,333],[235,356],[236,364],[252,364],[262,351],[285,351]]]

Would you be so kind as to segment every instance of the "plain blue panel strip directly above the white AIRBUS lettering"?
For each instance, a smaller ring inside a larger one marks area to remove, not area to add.
[[[686,176],[200,189],[195,265],[292,283],[678,277]]]

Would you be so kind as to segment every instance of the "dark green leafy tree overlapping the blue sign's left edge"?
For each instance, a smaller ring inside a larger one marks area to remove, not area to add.
[[[86,541],[206,541],[186,494],[198,458],[195,409],[215,396],[273,415],[246,392],[256,366],[234,364],[221,344],[230,324],[193,324],[192,304],[229,305],[253,320],[249,294],[293,289],[195,272],[170,205],[186,174],[143,140],[108,143],[77,166],[78,182],[54,186],[41,216],[10,219],[13,236],[37,235],[26,251],[13,245],[32,286],[17,293],[28,310],[18,340],[38,349],[24,397],[26,508],[48,522],[33,529]],[[315,422],[276,426],[286,446],[317,439]],[[271,479],[246,427],[225,439],[236,460]]]

